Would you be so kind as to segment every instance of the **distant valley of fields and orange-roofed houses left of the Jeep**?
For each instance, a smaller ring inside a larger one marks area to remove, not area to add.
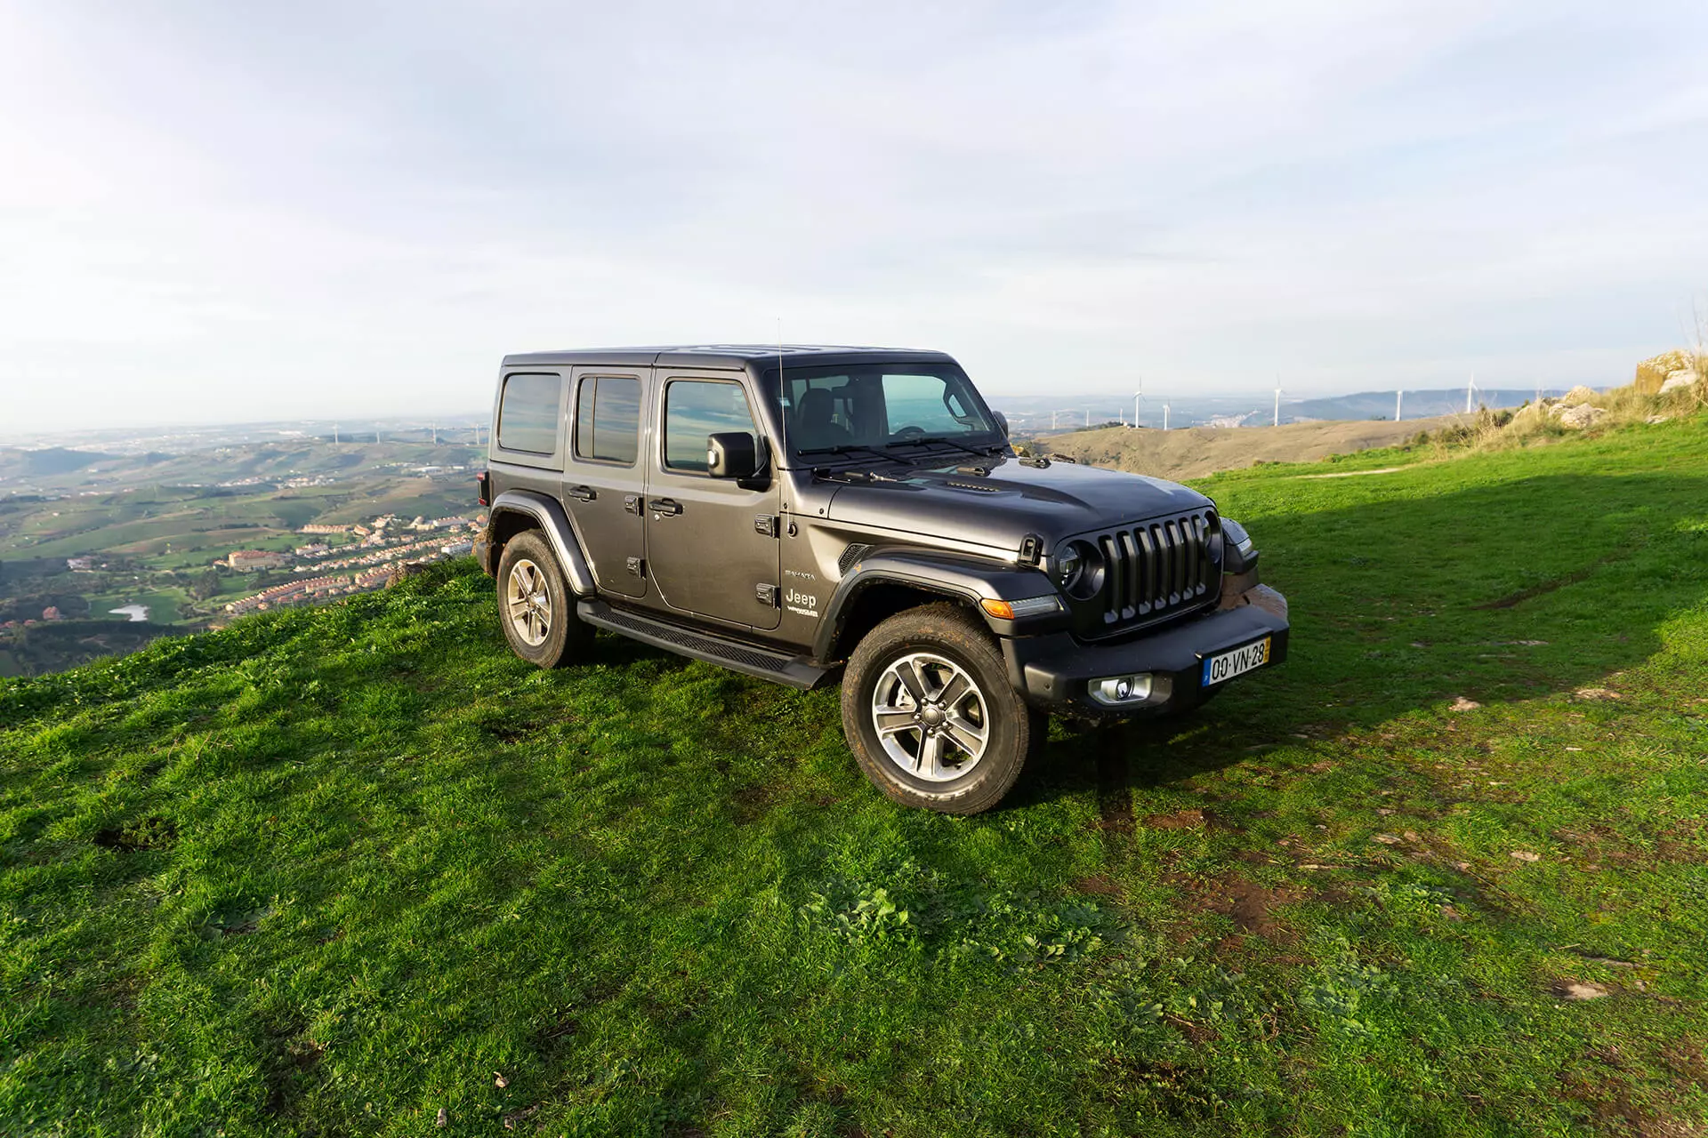
[[[302,546],[299,531],[309,522],[465,514],[475,505],[465,467],[475,461],[471,447],[403,442],[301,440],[140,457],[0,449],[0,491],[10,491],[0,495],[0,626],[12,623],[0,630],[0,674],[130,650],[140,628],[106,628],[123,619],[109,616],[120,606],[147,606],[155,635],[207,628],[227,601],[277,584],[215,561],[232,549]],[[70,572],[67,561],[84,556],[94,566]],[[19,630],[50,607],[80,628]]]

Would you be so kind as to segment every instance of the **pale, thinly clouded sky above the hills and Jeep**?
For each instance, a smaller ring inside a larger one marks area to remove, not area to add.
[[[506,351],[994,396],[1628,382],[1708,3],[0,0],[0,433],[434,415]]]

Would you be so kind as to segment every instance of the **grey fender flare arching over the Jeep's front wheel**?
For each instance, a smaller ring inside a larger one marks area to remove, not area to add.
[[[1044,594],[1054,594],[1056,585],[1035,568],[1020,568],[1004,561],[992,561],[977,556],[960,556],[953,553],[927,553],[897,549],[890,553],[873,553],[859,561],[837,582],[825,606],[825,618],[818,623],[813,638],[813,659],[830,659],[828,653],[842,636],[845,616],[854,601],[871,585],[905,585],[921,592],[934,592],[945,597],[967,601],[997,636],[1025,636],[1032,633],[1066,628],[1068,611],[1033,618],[1001,619],[991,616],[980,601],[1023,601]]]

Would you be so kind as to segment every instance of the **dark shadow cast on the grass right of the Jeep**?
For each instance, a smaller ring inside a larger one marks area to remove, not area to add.
[[[1500,705],[1604,686],[1708,597],[1705,502],[1705,478],[1542,476],[1242,519],[1264,580],[1291,606],[1286,662],[1179,718],[1057,727],[1004,805],[1095,785],[1105,812],[1119,812],[1124,792],[1272,746],[1332,740],[1457,698]]]

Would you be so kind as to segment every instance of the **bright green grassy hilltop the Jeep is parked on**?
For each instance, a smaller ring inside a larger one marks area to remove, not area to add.
[[[0,681],[0,1133],[1705,1133],[1708,420],[1201,485],[1288,664],[972,819],[466,566]]]

